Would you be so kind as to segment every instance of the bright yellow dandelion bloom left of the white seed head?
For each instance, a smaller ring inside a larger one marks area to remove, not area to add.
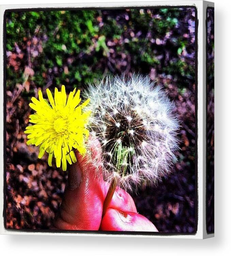
[[[76,162],[74,149],[77,149],[81,155],[86,153],[85,140],[89,136],[86,129],[90,111],[82,111],[89,103],[89,99],[78,105],[80,90],[76,88],[66,96],[65,86],[62,85],[61,91],[55,88],[55,97],[53,98],[49,89],[47,96],[50,104],[43,98],[42,91],[39,91],[39,100],[32,97],[32,103],[29,106],[35,110],[30,115],[30,125],[26,128],[28,133],[28,145],[39,146],[41,158],[45,152],[49,154],[48,165],[52,166],[52,158],[56,158],[56,166],[61,166],[66,171],[66,161],[70,164]]]

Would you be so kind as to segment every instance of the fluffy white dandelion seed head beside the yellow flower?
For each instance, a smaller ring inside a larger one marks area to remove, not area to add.
[[[89,85],[84,97],[90,98],[88,129],[101,143],[106,181],[116,177],[130,190],[143,182],[157,183],[170,172],[179,121],[160,86],[148,76],[107,76]]]

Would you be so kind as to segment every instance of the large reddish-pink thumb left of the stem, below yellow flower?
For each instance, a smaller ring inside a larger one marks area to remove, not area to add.
[[[70,166],[60,211],[53,226],[58,229],[98,230],[104,201],[102,170],[96,177],[94,162],[101,159],[100,145],[91,141],[92,156],[76,154],[77,162]]]

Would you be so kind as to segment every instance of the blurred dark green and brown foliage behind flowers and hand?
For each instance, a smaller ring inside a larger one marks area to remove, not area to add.
[[[139,72],[174,100],[180,151],[168,177],[132,196],[159,231],[195,232],[195,51],[194,8],[7,12],[6,226],[47,229],[67,179],[26,145],[31,97]]]

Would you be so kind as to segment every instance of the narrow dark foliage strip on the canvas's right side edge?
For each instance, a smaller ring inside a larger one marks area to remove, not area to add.
[[[214,8],[207,8],[206,229],[214,233]]]

